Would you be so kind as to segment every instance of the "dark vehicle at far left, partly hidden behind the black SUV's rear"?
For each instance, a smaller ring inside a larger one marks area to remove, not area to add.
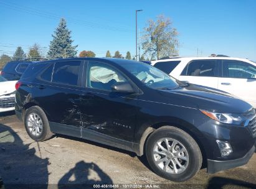
[[[26,61],[11,61],[7,62],[6,65],[0,71],[0,75],[4,76],[8,81],[19,80],[22,73],[27,69],[27,66],[33,62]]]

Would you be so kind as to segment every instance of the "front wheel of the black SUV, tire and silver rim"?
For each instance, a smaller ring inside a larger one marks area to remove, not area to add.
[[[194,177],[202,166],[202,154],[196,141],[177,127],[164,126],[146,142],[149,165],[159,176],[175,182]]]

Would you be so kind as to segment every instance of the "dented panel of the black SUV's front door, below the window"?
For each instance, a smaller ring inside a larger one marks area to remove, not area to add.
[[[137,104],[135,96],[94,89],[85,90],[81,98],[82,126],[133,142]]]

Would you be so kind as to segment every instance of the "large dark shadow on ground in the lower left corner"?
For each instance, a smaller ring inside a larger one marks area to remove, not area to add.
[[[48,159],[35,155],[10,127],[0,124],[0,175],[5,188],[26,188],[25,184],[42,184],[47,188]]]

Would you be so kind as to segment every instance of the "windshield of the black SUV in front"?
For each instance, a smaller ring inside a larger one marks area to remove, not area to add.
[[[176,79],[146,63],[127,62],[121,63],[120,65],[135,75],[138,80],[149,88],[156,90],[173,90],[179,87]]]

